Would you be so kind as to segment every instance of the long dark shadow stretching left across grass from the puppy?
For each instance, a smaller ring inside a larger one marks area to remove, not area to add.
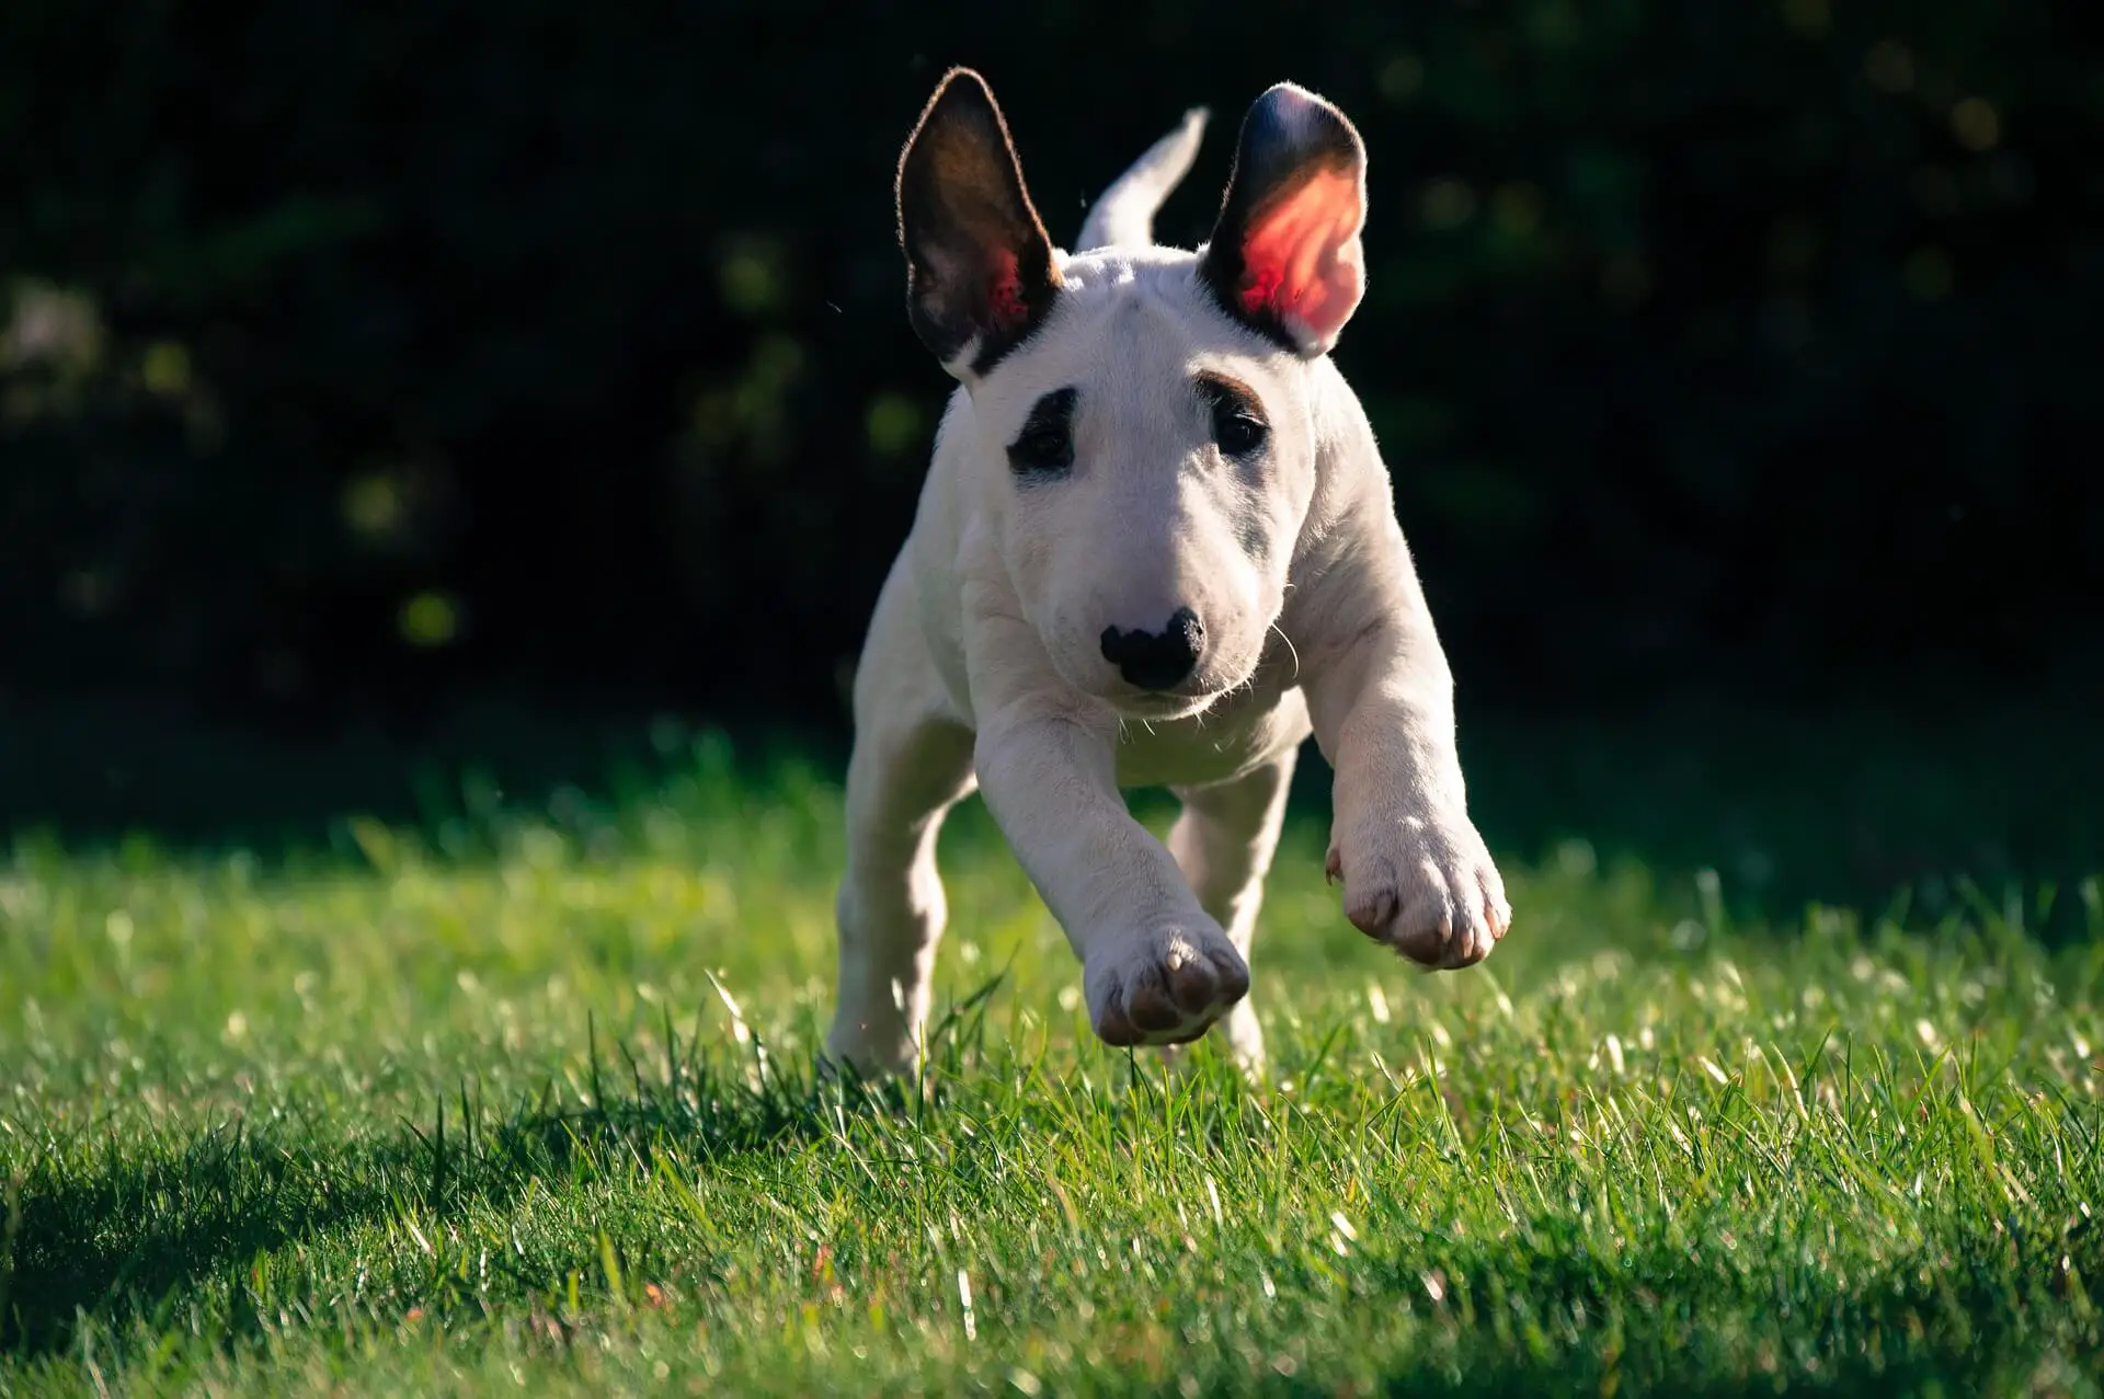
[[[103,1325],[185,1323],[189,1294],[225,1283],[227,1338],[259,1330],[259,1256],[311,1245],[389,1218],[431,1218],[467,1205],[515,1201],[532,1180],[604,1174],[675,1149],[722,1161],[833,1130],[835,1113],[901,1111],[896,1096],[816,1081],[751,1090],[707,1065],[680,1065],[675,1081],[589,1104],[539,1102],[488,1121],[465,1092],[427,1126],[383,1138],[330,1140],[246,1121],[145,1151],[107,1149],[95,1161],[27,1168],[13,1224],[13,1269],[0,1269],[0,1355],[69,1349],[82,1319]],[[61,1147],[63,1151],[63,1147]],[[0,1258],[4,1262],[4,1258]],[[499,1260],[522,1296],[560,1285],[562,1269],[526,1277]]]

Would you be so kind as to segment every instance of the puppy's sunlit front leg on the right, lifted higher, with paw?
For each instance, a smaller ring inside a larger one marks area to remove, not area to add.
[[[1469,820],[1454,682],[1399,532],[1361,579],[1359,623],[1304,682],[1336,770],[1330,877],[1365,936],[1431,968],[1481,961],[1513,921],[1504,879]],[[1349,616],[1351,610],[1340,614]]]

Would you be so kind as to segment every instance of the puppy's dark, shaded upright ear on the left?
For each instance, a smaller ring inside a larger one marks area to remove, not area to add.
[[[987,82],[953,67],[898,158],[913,332],[957,379],[985,374],[1052,309],[1058,265]]]

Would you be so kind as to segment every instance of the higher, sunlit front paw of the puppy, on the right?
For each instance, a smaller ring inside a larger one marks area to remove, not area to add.
[[[1475,966],[1513,926],[1504,879],[1466,820],[1405,816],[1330,848],[1344,917],[1376,942],[1433,968]]]

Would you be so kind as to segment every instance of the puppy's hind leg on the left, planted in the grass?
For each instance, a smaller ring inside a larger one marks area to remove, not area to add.
[[[877,602],[854,680],[848,869],[839,884],[839,1001],[827,1056],[865,1075],[909,1071],[943,938],[943,816],[972,791],[972,732],[943,713],[911,583]]]

